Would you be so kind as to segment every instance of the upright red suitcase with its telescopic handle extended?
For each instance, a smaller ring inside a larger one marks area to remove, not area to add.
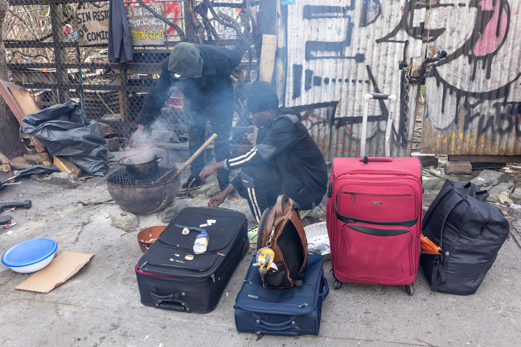
[[[386,157],[364,157],[370,99],[391,101]],[[389,135],[396,97],[366,94],[361,158],[334,158],[326,223],[336,281],[405,285],[414,293],[418,270],[422,185],[418,158],[389,158]]]

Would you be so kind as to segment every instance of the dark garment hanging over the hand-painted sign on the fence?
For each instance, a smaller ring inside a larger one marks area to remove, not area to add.
[[[132,61],[132,40],[123,0],[109,0],[108,5],[108,60]]]

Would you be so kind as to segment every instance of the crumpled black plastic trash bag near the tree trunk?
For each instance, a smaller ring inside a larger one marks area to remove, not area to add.
[[[26,115],[22,131],[34,135],[52,156],[63,156],[93,176],[107,173],[107,143],[96,121],[74,101]]]

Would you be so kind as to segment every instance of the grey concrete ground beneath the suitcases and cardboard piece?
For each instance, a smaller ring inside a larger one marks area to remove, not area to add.
[[[185,175],[187,175],[185,173]],[[470,178],[470,177],[464,177]],[[443,179],[426,177],[424,205]],[[216,182],[211,182],[211,185]],[[207,189],[210,190],[210,189]],[[204,206],[204,191],[183,199]],[[2,201],[31,199],[29,210],[8,211],[19,224],[6,235],[0,229],[0,252],[18,242],[49,237],[58,251],[94,253],[91,261],[65,284],[47,294],[16,290],[29,275],[0,265],[0,344],[2,346],[199,346],[199,345],[342,345],[342,346],[517,346],[521,331],[521,222],[511,210],[511,234],[481,287],[466,297],[431,292],[418,272],[415,295],[403,286],[343,284],[330,288],[322,306],[320,336],[264,336],[235,329],[233,305],[252,257],[242,260],[217,308],[208,314],[156,310],[140,303],[134,266],[143,254],[137,232],[111,225],[113,205],[82,206],[78,201],[109,199],[103,178],[76,189],[23,178],[0,192]],[[323,204],[323,203],[322,203]],[[223,207],[253,220],[247,203],[235,196]],[[6,212],[4,212],[6,213]],[[322,214],[322,216],[320,215]],[[325,217],[317,209],[304,221]],[[308,221],[306,221],[308,223]],[[139,217],[139,229],[161,225],[158,214]],[[326,277],[332,286],[330,261]]]

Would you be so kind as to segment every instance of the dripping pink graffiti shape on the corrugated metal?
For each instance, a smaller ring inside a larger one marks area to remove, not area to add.
[[[479,38],[479,40],[474,45],[472,52],[475,56],[481,57],[487,54],[494,52],[503,42],[503,39],[506,35],[506,27],[508,24],[508,13],[506,6],[500,11],[500,1],[493,5],[493,0],[481,0],[479,5],[481,5],[481,10],[483,11],[494,11],[492,18],[487,23],[485,30],[483,31],[483,36]],[[501,19],[499,18],[499,14],[501,12]],[[498,21],[500,21],[499,25],[499,35],[496,35],[498,29]]]

